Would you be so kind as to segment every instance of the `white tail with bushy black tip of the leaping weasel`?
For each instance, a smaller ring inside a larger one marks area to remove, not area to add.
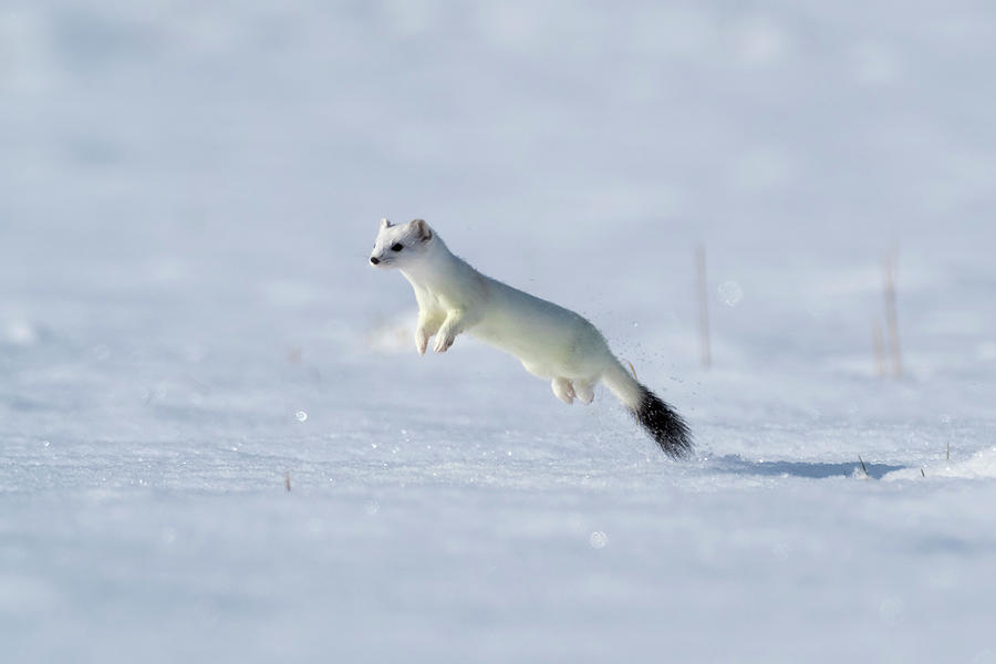
[[[622,364],[613,365],[602,373],[602,381],[626,407],[636,422],[661,446],[664,454],[674,459],[692,453],[692,432],[682,416],[653,392],[636,382]]]

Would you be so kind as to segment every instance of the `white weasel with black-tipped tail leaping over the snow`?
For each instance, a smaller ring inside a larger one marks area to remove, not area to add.
[[[529,373],[551,381],[567,404],[594,400],[599,381],[622,402],[672,458],[692,452],[682,417],[641,385],[609,350],[602,333],[580,314],[486,277],[449,251],[423,219],[394,225],[381,219],[370,262],[397,268],[418,302],[415,347],[445,353],[461,332],[522,362]]]

